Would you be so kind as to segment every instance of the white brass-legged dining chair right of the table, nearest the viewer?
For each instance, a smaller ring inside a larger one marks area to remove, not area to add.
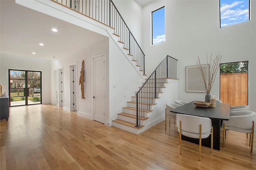
[[[230,111],[230,117],[228,121],[223,121],[223,144],[225,145],[226,130],[232,130],[250,134],[249,146],[252,153],[254,127],[256,122],[256,113],[253,111]]]

